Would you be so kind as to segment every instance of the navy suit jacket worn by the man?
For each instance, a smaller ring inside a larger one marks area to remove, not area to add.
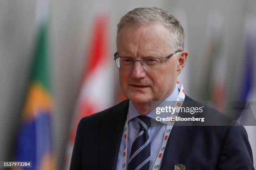
[[[195,100],[186,96],[185,101]],[[70,170],[116,169],[128,105],[129,101],[125,100],[82,118],[77,128]],[[207,113],[212,120],[219,117],[218,120],[229,121],[222,113],[206,106],[200,116]],[[161,170],[174,170],[177,164],[185,165],[186,170],[254,169],[251,146],[241,125],[173,126]]]

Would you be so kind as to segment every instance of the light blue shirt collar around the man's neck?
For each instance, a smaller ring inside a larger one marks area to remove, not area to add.
[[[179,88],[176,85],[176,87],[175,87],[174,91],[172,92],[172,94],[169,95],[164,101],[176,101],[178,95],[179,95]],[[128,110],[129,110],[128,122],[130,120],[132,120],[134,117],[137,117],[137,116],[141,115],[140,112],[138,112],[136,107],[133,105],[133,102],[131,100],[129,100],[129,108],[128,108]],[[153,110],[151,112],[149,112],[146,116],[152,118],[152,112],[153,112]],[[153,119],[155,119],[155,117],[153,117]],[[167,122],[163,122],[163,121],[161,121],[161,122],[164,123],[164,124],[167,124]]]

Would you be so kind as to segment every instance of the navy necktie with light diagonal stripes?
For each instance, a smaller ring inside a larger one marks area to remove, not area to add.
[[[130,158],[128,160],[128,170],[149,170],[150,163],[150,141],[148,128],[151,126],[151,118],[147,116],[136,117],[140,124],[140,130],[135,138]]]

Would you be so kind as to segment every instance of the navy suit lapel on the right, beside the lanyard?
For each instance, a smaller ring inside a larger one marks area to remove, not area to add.
[[[186,103],[186,101],[188,102]],[[190,98],[186,96],[182,107],[187,107],[187,104],[191,104],[190,102],[193,102],[193,100],[190,100]],[[183,114],[179,114],[179,116],[184,117]],[[177,164],[186,166],[187,155],[189,155],[199,127],[200,126],[173,126],[164,151],[161,170],[172,170],[174,169],[174,165]]]

